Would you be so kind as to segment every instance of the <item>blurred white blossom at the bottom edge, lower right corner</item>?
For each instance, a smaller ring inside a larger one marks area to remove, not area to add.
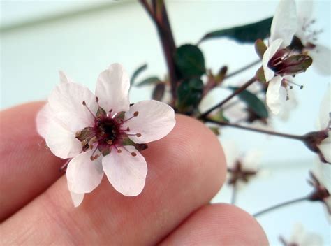
[[[284,246],[322,246],[323,239],[316,233],[311,233],[304,230],[302,224],[295,224],[293,226],[292,235],[288,240],[280,237],[282,245]]]

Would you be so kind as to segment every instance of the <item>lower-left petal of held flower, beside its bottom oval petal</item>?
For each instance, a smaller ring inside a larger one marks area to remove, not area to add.
[[[93,191],[103,178],[101,157],[91,161],[93,150],[83,152],[74,157],[66,169],[69,191],[84,194]]]

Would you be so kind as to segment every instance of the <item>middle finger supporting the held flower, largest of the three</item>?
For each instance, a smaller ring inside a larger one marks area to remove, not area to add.
[[[3,234],[12,239],[3,238],[4,244],[159,242],[210,201],[226,175],[223,152],[214,133],[190,117],[177,115],[176,121],[168,136],[142,152],[149,168],[142,194],[123,196],[104,178],[80,207],[73,208],[66,178],[61,178],[4,222]]]

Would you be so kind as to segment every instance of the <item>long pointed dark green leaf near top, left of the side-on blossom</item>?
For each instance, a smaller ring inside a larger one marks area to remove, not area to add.
[[[212,31],[203,36],[199,43],[211,38],[231,38],[239,43],[254,43],[256,39],[264,39],[270,35],[271,22],[272,17],[239,27]]]

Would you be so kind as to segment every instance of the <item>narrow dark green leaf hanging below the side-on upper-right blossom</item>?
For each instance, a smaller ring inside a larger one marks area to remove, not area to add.
[[[239,89],[238,87],[230,87],[230,89],[233,89],[233,91]],[[239,98],[246,103],[246,105],[253,110],[256,115],[267,118],[268,112],[267,107],[265,106],[265,103],[261,101],[255,94],[249,92],[248,90],[244,90],[240,94],[238,94]]]

